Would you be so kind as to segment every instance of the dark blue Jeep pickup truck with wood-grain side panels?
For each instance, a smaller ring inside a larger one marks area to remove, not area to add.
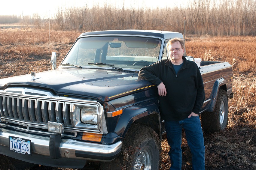
[[[166,43],[181,33],[110,30],[82,33],[56,68],[0,79],[0,154],[18,169],[34,164],[100,169],[159,169],[164,120],[156,85],[142,67],[168,59]],[[184,53],[186,56],[186,53]],[[195,61],[207,132],[227,126],[233,97],[228,62]]]

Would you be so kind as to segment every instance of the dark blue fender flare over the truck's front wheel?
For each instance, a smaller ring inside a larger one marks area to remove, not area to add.
[[[157,123],[158,123],[158,132],[161,135],[161,122],[160,122],[160,112],[157,105],[151,101],[138,103],[133,106],[127,107],[123,110],[123,114],[120,116],[120,119],[117,122],[117,126],[114,132],[124,137],[128,129],[130,128],[131,124],[139,120],[140,118],[145,118],[148,115],[155,115],[157,116]],[[147,123],[147,122],[145,122]]]

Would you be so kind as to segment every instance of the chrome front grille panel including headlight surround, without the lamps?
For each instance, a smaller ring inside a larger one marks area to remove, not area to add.
[[[81,108],[94,108],[97,124],[80,120]],[[0,90],[1,127],[33,133],[48,132],[48,121],[64,126],[62,136],[76,136],[77,132],[108,133],[103,106],[94,100],[56,96],[50,91],[26,87]]]

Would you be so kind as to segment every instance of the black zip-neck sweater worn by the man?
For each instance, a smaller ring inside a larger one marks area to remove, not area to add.
[[[180,121],[191,112],[199,114],[205,100],[203,79],[197,64],[182,56],[183,65],[177,75],[168,60],[143,67],[139,76],[155,85],[165,85],[166,96],[159,96],[161,117]]]

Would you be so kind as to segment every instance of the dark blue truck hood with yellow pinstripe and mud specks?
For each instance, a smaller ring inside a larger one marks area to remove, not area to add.
[[[152,83],[138,77],[138,73],[119,70],[60,68],[31,74],[0,79],[0,89],[8,87],[30,87],[49,90],[53,94],[70,97],[108,101],[135,93]]]

